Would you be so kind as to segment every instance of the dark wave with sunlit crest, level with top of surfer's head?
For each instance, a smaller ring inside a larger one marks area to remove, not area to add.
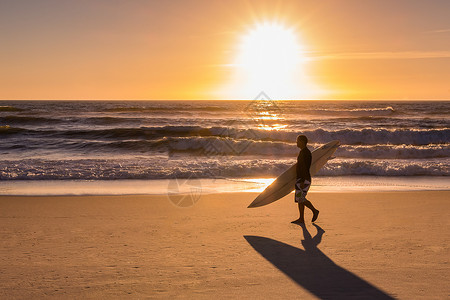
[[[92,130],[31,130],[8,128],[4,134],[38,135],[43,137],[74,138],[85,140],[142,139],[156,140],[169,137],[221,137],[232,140],[272,141],[292,143],[297,135],[304,134],[311,143],[327,143],[339,140],[343,145],[429,145],[450,143],[450,129],[342,129],[269,131],[263,129],[236,129],[233,127],[163,126],[139,128],[113,128]]]

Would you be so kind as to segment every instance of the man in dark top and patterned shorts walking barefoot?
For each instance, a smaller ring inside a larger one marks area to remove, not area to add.
[[[297,181],[295,182],[295,202],[298,203],[298,211],[300,212],[300,218],[292,223],[305,223],[305,206],[311,209],[313,212],[313,218],[311,222],[317,220],[319,216],[319,210],[317,210],[312,203],[306,199],[309,187],[311,186],[311,174],[309,168],[311,167],[311,151],[308,147],[308,138],[304,135],[297,137],[297,147],[300,148],[300,153],[297,157]]]

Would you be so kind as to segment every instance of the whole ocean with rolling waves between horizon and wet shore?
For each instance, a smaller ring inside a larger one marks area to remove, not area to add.
[[[0,101],[0,181],[450,175],[450,101]],[[448,178],[448,177],[446,177]]]

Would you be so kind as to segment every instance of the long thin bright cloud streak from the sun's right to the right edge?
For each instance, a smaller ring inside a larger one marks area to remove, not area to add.
[[[311,60],[450,58],[450,51],[351,52],[307,55]]]

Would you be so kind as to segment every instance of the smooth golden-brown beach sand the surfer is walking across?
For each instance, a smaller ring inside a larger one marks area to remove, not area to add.
[[[0,297],[450,297],[450,191],[254,197],[0,197]]]

